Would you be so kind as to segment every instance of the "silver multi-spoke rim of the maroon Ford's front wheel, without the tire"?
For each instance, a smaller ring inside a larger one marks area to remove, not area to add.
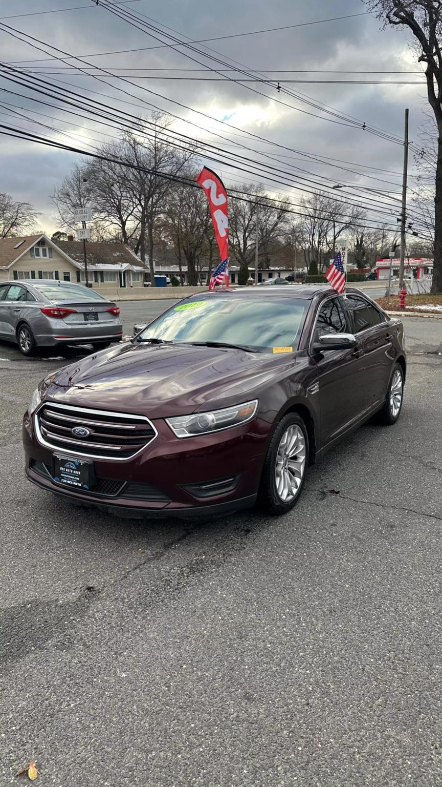
[[[282,435],[274,466],[274,481],[278,497],[289,503],[297,496],[305,472],[307,453],[303,430],[294,424]]]

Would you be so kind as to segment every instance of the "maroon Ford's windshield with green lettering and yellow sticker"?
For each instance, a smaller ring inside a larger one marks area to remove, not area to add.
[[[172,306],[150,323],[140,339],[164,342],[224,342],[262,352],[297,349],[309,301],[293,297],[216,294]],[[289,350],[287,350],[289,351]]]

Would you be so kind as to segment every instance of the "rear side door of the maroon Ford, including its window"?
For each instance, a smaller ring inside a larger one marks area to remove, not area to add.
[[[392,371],[392,330],[385,314],[363,295],[348,294],[352,331],[364,351],[365,407],[375,408],[385,400]]]

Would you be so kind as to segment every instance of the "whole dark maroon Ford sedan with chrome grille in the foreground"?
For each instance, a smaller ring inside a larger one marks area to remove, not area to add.
[[[46,377],[24,416],[26,473],[111,512],[282,514],[308,465],[400,415],[403,326],[359,290],[188,297],[131,342]]]

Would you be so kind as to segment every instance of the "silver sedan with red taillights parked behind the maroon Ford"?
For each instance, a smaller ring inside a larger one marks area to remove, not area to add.
[[[120,307],[82,284],[53,279],[0,283],[0,339],[24,355],[38,347],[120,342]]]

